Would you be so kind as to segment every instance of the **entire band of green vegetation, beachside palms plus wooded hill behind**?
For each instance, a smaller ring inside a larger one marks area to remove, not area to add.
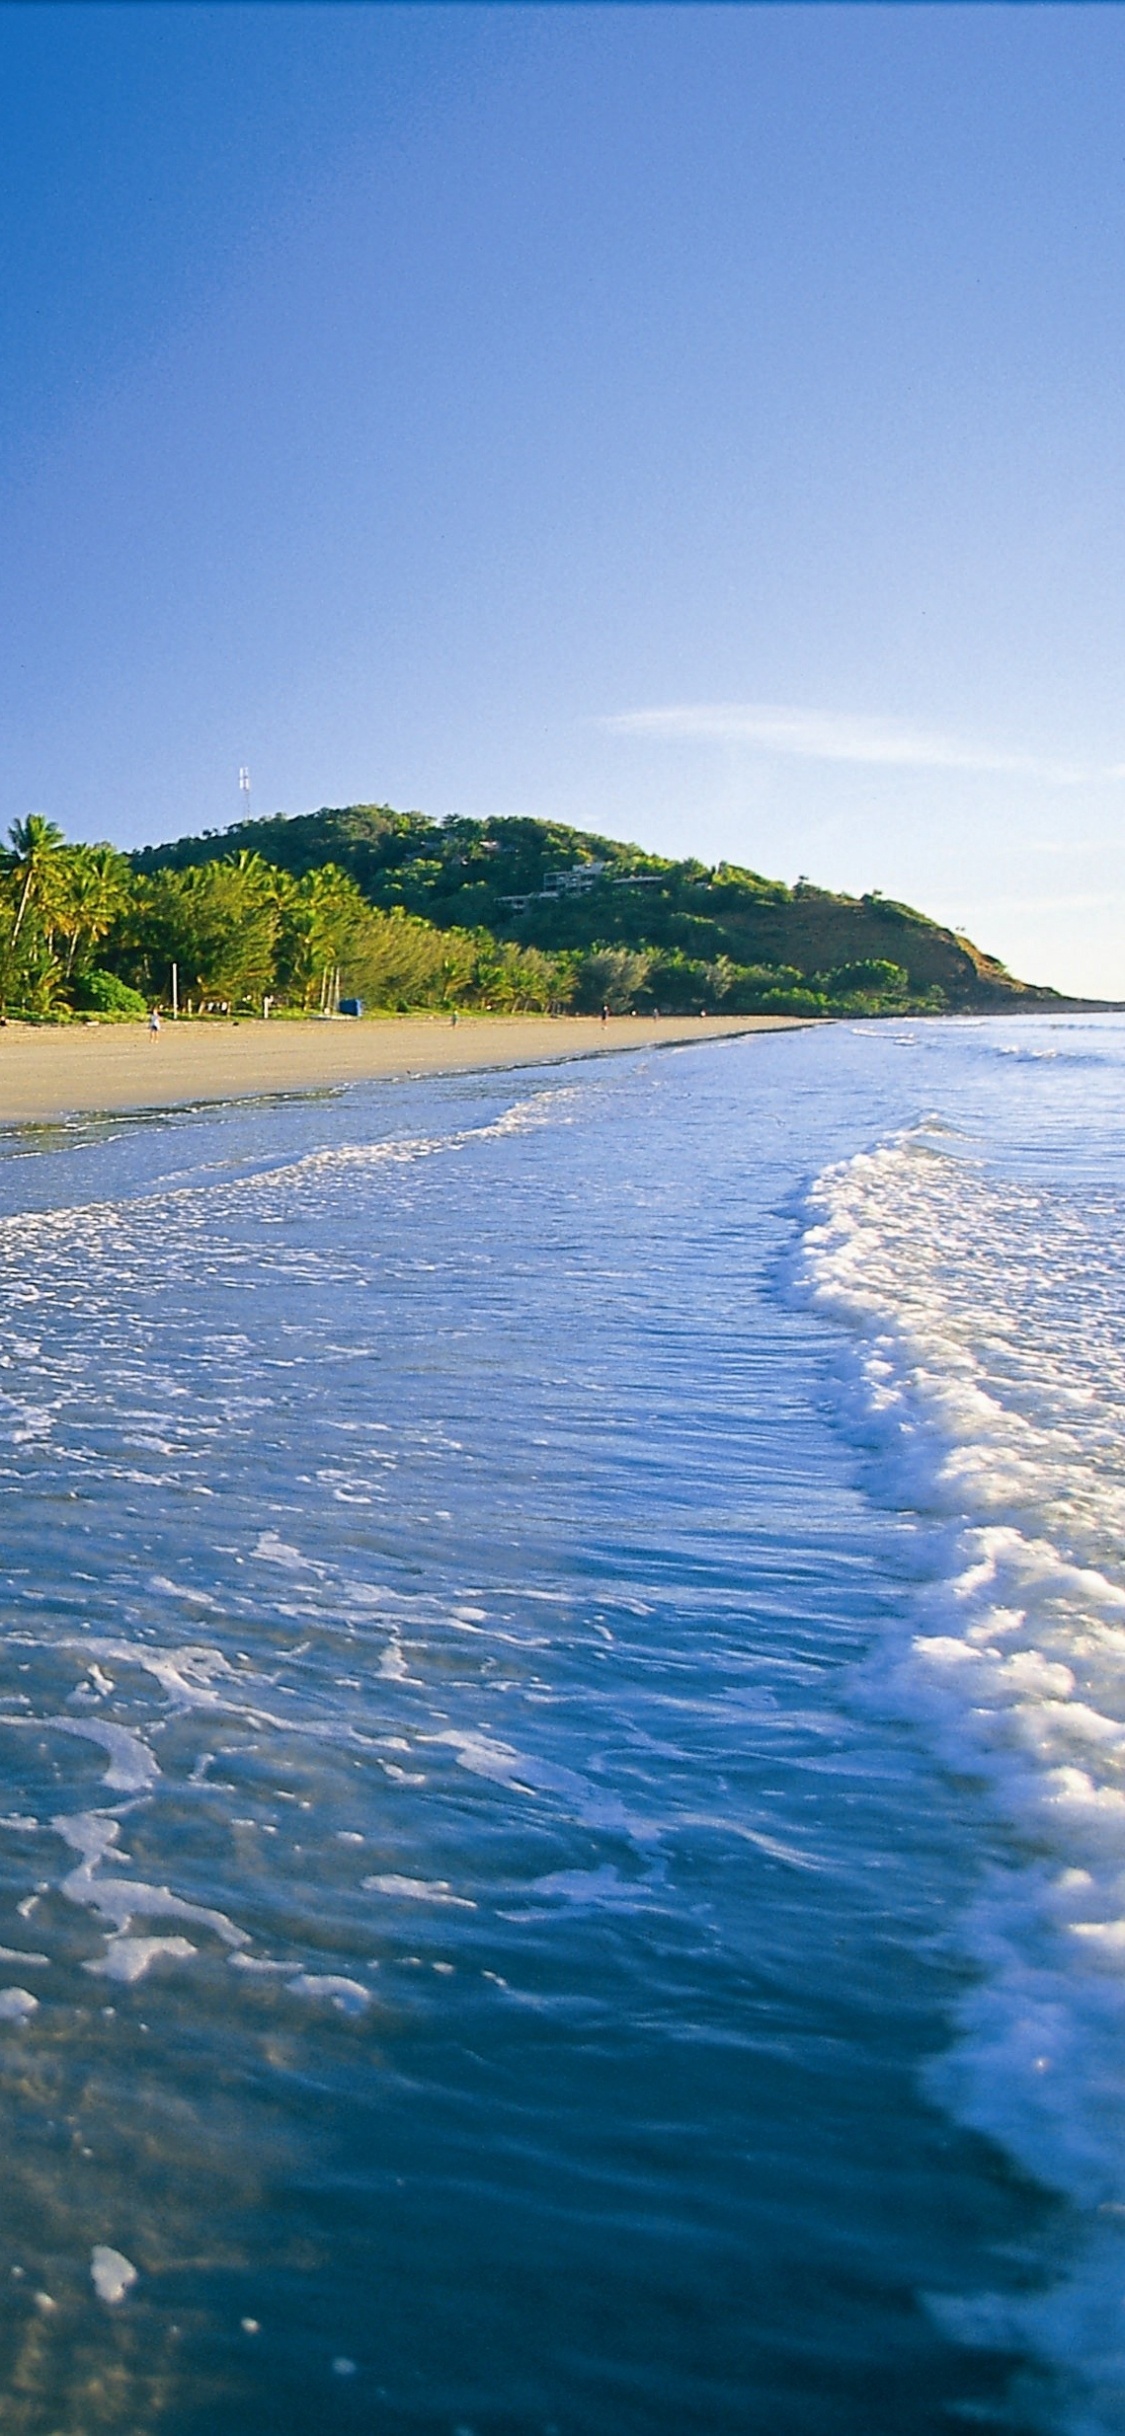
[[[553,821],[387,806],[251,821],[119,855],[39,814],[0,857],[0,1009],[480,1006],[940,1013],[1037,1004],[969,940],[881,896],[670,862]],[[1054,1004],[1059,1004],[1054,999]]]

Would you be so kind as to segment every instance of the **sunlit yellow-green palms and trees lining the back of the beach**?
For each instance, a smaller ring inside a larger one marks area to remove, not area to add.
[[[908,974],[867,960],[825,974],[726,955],[619,943],[545,950],[494,931],[380,909],[334,862],[300,877],[241,848],[190,867],[139,870],[112,845],[75,845],[41,814],[0,860],[0,1011],[32,1021],[183,1013],[489,1009],[877,1013],[903,1006]],[[913,1004],[913,1001],[911,1001]]]

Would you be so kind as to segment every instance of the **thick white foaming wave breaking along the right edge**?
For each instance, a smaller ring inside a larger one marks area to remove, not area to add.
[[[821,1177],[801,1286],[852,1340],[847,1408],[933,1571],[894,1686],[981,1788],[998,1859],[933,2075],[1069,2202],[1032,2300],[942,2304],[1050,2360],[1069,2436],[1125,2429],[1125,1228],[989,1181],[940,1128]]]

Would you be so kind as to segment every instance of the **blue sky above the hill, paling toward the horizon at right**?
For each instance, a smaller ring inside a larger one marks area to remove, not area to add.
[[[1125,12],[0,10],[0,823],[541,814],[1125,996]]]

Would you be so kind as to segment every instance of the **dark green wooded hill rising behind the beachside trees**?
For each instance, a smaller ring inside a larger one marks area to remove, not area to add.
[[[377,911],[565,957],[580,1001],[872,1013],[1074,1004],[879,894],[833,896],[728,862],[672,862],[558,821],[431,821],[351,804],[151,845],[131,865],[156,875],[239,853],[295,879],[334,865]]]

